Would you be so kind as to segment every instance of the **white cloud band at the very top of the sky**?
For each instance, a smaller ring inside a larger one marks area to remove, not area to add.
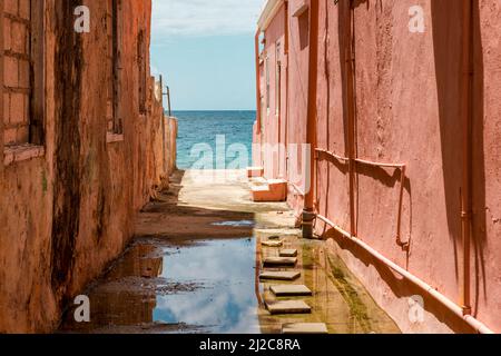
[[[154,0],[157,40],[253,33],[264,0]]]

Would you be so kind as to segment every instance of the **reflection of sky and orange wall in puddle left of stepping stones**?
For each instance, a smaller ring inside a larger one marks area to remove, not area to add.
[[[254,239],[135,245],[89,293],[91,323],[61,332],[258,333]]]

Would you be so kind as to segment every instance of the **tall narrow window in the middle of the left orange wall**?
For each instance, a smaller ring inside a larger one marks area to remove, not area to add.
[[[121,0],[108,0],[107,29],[108,29],[108,100],[107,121],[108,131],[124,134],[124,125],[120,112],[120,48],[121,48]]]

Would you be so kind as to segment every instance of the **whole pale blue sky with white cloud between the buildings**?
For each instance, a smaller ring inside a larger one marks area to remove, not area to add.
[[[254,32],[263,0],[154,0],[151,71],[174,110],[255,109]]]

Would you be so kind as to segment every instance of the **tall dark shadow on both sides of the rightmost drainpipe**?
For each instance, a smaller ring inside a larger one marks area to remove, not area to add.
[[[487,297],[483,250],[485,236],[485,175],[483,151],[483,55],[480,31],[479,1],[473,0],[472,56],[474,60],[472,119],[472,246],[474,253],[473,314],[479,300]],[[454,243],[455,273],[461,280],[461,182],[462,182],[462,1],[431,1],[435,76],[439,99],[440,135],[442,145],[443,184],[446,199],[449,231]],[[482,289],[482,290],[481,290]]]

